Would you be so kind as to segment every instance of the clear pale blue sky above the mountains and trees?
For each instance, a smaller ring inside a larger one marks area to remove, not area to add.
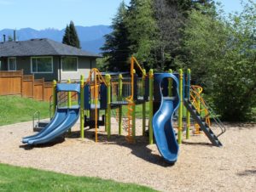
[[[0,0],[0,30],[31,27],[64,28],[75,25],[110,25],[122,0]],[[219,0],[227,13],[240,11],[240,0]],[[130,0],[125,0],[129,3]]]

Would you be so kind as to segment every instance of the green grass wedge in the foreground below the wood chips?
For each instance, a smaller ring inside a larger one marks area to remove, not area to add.
[[[0,164],[0,191],[154,191],[137,184]]]

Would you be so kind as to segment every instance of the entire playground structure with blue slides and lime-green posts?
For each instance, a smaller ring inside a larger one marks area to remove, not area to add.
[[[137,71],[135,70],[137,69]],[[157,145],[160,154],[170,163],[177,161],[178,144],[183,138],[183,106],[186,108],[186,138],[189,138],[190,116],[195,120],[195,134],[204,132],[214,146],[222,146],[218,136],[224,133],[224,126],[213,110],[201,97],[202,88],[190,86],[190,71],[183,74],[168,71],[148,74],[131,58],[130,73],[101,73],[97,69],[90,71],[89,77],[80,82],[56,83],[53,88],[53,112],[55,116],[44,129],[33,136],[23,138],[24,144],[44,144],[66,133],[79,120],[80,137],[84,138],[84,127],[95,128],[98,141],[98,128],[105,126],[108,138],[111,137],[112,111],[117,113],[119,134],[124,129],[129,143],[136,142],[136,105],[143,105],[143,135],[146,135],[146,103],[149,104],[148,143]],[[67,104],[61,105],[61,98]],[[74,101],[76,100],[76,101]],[[124,115],[123,106],[127,106]],[[178,110],[178,112],[177,112]],[[100,117],[100,111],[105,115]],[[177,137],[173,128],[173,116],[177,116]],[[213,132],[210,117],[216,121],[221,133]],[[153,139],[154,138],[154,139]]]

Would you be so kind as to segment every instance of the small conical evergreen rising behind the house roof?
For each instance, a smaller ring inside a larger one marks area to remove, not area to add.
[[[70,21],[70,24],[67,25],[62,42],[75,48],[81,48],[79,36],[73,24],[73,21]]]

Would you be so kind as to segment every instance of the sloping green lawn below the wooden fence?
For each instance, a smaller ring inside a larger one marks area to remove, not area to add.
[[[49,117],[49,103],[21,98],[20,96],[0,96],[0,126],[15,122],[32,121],[35,111],[41,118]]]

